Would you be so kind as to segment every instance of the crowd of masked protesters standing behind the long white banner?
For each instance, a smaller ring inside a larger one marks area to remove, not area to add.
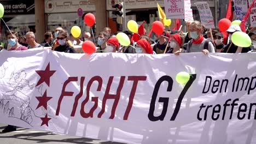
[[[162,34],[156,34],[156,40],[148,37],[147,32],[141,35],[138,41],[133,41],[133,33],[124,31],[130,39],[129,46],[121,46],[118,39],[111,32],[109,27],[102,29],[96,38],[91,37],[90,32],[83,32],[80,38],[74,38],[68,34],[67,29],[56,27],[55,32],[46,32],[42,43],[37,43],[33,32],[27,32],[26,35],[18,37],[14,31],[7,32],[8,46],[7,50],[28,50],[37,47],[52,47],[51,49],[59,52],[75,53],[74,45],[82,46],[83,41],[90,40],[96,45],[96,53],[119,52],[119,53],[148,53],[162,54],[187,52],[225,52],[225,53],[245,53],[254,52],[256,44],[256,28],[249,27],[247,34],[252,40],[249,47],[238,47],[232,43],[231,35],[234,32],[241,31],[240,26],[231,25],[226,32],[219,32],[218,29],[206,29],[199,21],[189,20],[186,22],[187,33],[182,31],[164,31]],[[212,33],[212,34],[211,34]],[[213,36],[213,37],[212,37]],[[255,40],[254,40],[255,39]],[[1,47],[3,45],[1,43]]]

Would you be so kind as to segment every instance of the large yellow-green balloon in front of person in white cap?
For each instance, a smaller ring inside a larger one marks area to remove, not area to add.
[[[252,40],[248,34],[244,32],[235,32],[231,36],[232,43],[240,47],[249,47],[252,45]]]

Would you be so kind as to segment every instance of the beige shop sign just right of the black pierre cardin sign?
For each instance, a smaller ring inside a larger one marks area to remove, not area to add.
[[[77,12],[78,8],[84,11],[95,11],[96,0],[45,0],[45,13]]]

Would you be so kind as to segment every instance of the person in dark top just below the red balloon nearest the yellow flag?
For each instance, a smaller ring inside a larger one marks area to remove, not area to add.
[[[159,41],[154,45],[153,51],[155,51],[157,54],[160,54],[160,53],[164,53],[165,50],[170,49],[170,45],[166,40],[166,31],[162,32],[161,35],[156,34],[156,38],[158,38]]]

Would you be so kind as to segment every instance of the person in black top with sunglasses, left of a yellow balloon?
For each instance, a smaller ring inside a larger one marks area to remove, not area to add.
[[[56,39],[60,45],[55,48],[55,51],[75,53],[74,47],[70,46],[69,43],[67,43],[68,32],[66,30],[61,30]]]

